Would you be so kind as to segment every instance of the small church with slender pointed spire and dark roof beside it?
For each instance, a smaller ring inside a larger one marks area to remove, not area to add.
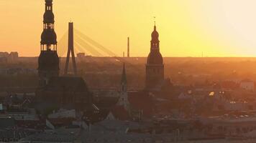
[[[125,65],[123,66],[120,85],[118,102],[111,107],[106,119],[140,121],[144,117],[150,117],[154,108],[152,97],[147,91],[127,91]]]

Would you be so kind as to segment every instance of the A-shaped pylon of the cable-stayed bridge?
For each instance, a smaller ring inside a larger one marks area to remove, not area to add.
[[[74,72],[74,75],[77,75],[76,57],[74,53],[73,22],[68,23],[68,54],[67,54],[67,59],[65,61],[65,71],[64,71],[65,75],[68,74],[68,64],[69,64],[70,53],[71,53],[72,62],[73,62],[73,72]]]

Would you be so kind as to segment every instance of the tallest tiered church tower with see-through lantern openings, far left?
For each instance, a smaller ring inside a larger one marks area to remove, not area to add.
[[[43,31],[41,34],[41,51],[38,58],[38,74],[40,86],[47,84],[50,77],[59,75],[59,57],[57,53],[57,36],[54,31],[54,14],[52,0],[45,0]]]

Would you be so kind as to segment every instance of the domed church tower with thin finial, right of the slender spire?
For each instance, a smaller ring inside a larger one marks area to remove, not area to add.
[[[146,64],[146,83],[145,89],[154,90],[164,80],[164,65],[163,57],[159,49],[159,34],[157,27],[154,26],[154,31],[151,34],[150,54],[147,56]]]

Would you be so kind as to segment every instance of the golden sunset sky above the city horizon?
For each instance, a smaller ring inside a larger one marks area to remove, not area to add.
[[[0,0],[0,51],[40,53],[44,4]],[[256,56],[255,7],[255,0],[53,0],[58,39],[72,19],[76,29],[118,56],[127,36],[131,55],[147,56],[153,16],[163,56]]]

